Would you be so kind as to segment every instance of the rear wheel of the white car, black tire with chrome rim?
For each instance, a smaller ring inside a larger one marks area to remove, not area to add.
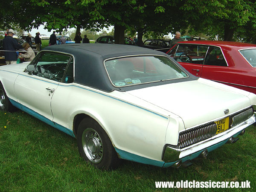
[[[119,166],[115,149],[106,132],[98,122],[84,118],[78,127],[77,145],[80,155],[93,166],[102,170],[115,169]]]

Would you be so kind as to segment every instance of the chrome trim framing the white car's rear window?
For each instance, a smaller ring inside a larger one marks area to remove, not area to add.
[[[105,65],[105,62],[106,61],[109,61],[109,60],[113,60],[113,59],[118,59],[118,58],[127,58],[127,57],[140,57],[140,56],[161,56],[161,57],[166,57],[168,58],[170,61],[172,61],[172,59],[170,59],[168,56],[165,56],[165,55],[150,55],[150,54],[145,54],[145,55],[125,55],[125,56],[119,56],[119,57],[113,57],[113,58],[108,58],[108,59],[105,59],[103,61],[103,65],[105,67],[105,70],[106,70],[106,73],[108,74],[108,70],[106,68],[106,65]],[[173,61],[172,61],[173,62]],[[175,62],[173,62],[175,64]],[[164,81],[171,81],[171,80],[177,80],[177,79],[185,79],[185,78],[189,78],[189,75],[183,71],[177,64],[175,64],[176,67],[178,67],[183,73],[185,73],[187,75],[187,77],[182,77],[182,78],[175,78],[175,79],[165,79],[165,80],[158,80],[158,81],[149,81],[149,82],[146,82],[146,83],[138,83],[138,84],[128,84],[128,85],[125,85],[125,86],[116,86],[113,84],[113,82],[111,81],[111,78],[108,74],[108,79],[110,80],[111,84],[114,86],[114,87],[129,87],[129,86],[135,86],[135,85],[140,85],[140,84],[149,84],[149,83],[154,83],[154,82],[164,82]]]

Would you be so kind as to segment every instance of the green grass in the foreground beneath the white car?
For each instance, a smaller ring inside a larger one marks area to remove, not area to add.
[[[211,192],[256,190],[256,127],[239,141],[180,169],[123,161],[100,171],[82,160],[76,139],[34,117],[0,112],[0,192]],[[155,181],[250,181],[250,189],[159,189]]]

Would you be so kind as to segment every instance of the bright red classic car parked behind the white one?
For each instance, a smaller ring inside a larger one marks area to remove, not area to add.
[[[182,41],[167,54],[195,76],[256,94],[256,44]]]

